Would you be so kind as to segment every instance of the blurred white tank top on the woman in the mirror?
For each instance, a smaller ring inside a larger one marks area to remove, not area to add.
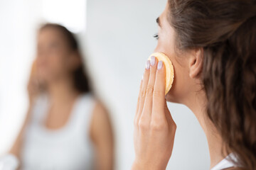
[[[93,169],[94,152],[89,136],[95,107],[92,94],[78,97],[68,123],[58,130],[49,130],[43,125],[48,106],[47,96],[40,96],[33,107],[23,138],[21,169]]]

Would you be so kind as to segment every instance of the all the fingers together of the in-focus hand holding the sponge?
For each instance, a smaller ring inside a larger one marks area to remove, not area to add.
[[[151,62],[146,62],[144,78],[141,82],[139,98],[137,101],[137,115],[134,120],[136,125],[148,126],[151,124],[159,126],[161,123],[174,123],[166,106],[165,86],[166,72],[162,61],[156,57]]]

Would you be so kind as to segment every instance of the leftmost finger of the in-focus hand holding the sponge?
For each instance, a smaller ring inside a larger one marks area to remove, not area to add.
[[[139,91],[139,106],[138,106],[138,113],[137,113],[137,118],[136,118],[136,123],[139,123],[139,118],[142,115],[142,110],[143,110],[143,106],[144,106],[144,101],[145,101],[145,97],[146,97],[146,87],[147,84],[149,82],[149,73],[150,72],[150,61],[147,60],[146,61],[146,68],[143,74],[143,80],[142,80],[142,90]]]

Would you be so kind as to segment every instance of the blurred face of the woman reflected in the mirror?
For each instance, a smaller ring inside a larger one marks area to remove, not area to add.
[[[72,50],[63,33],[57,28],[43,28],[37,43],[38,78],[50,83],[69,76]]]

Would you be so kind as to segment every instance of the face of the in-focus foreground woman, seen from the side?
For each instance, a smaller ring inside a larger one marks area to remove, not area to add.
[[[174,83],[171,90],[166,94],[166,100],[176,103],[183,103],[186,96],[191,92],[193,80],[189,77],[188,52],[178,52],[175,49],[175,32],[167,20],[169,4],[166,5],[164,12],[157,19],[159,24],[159,39],[154,52],[164,52],[174,65]],[[178,52],[178,55],[177,55]]]

